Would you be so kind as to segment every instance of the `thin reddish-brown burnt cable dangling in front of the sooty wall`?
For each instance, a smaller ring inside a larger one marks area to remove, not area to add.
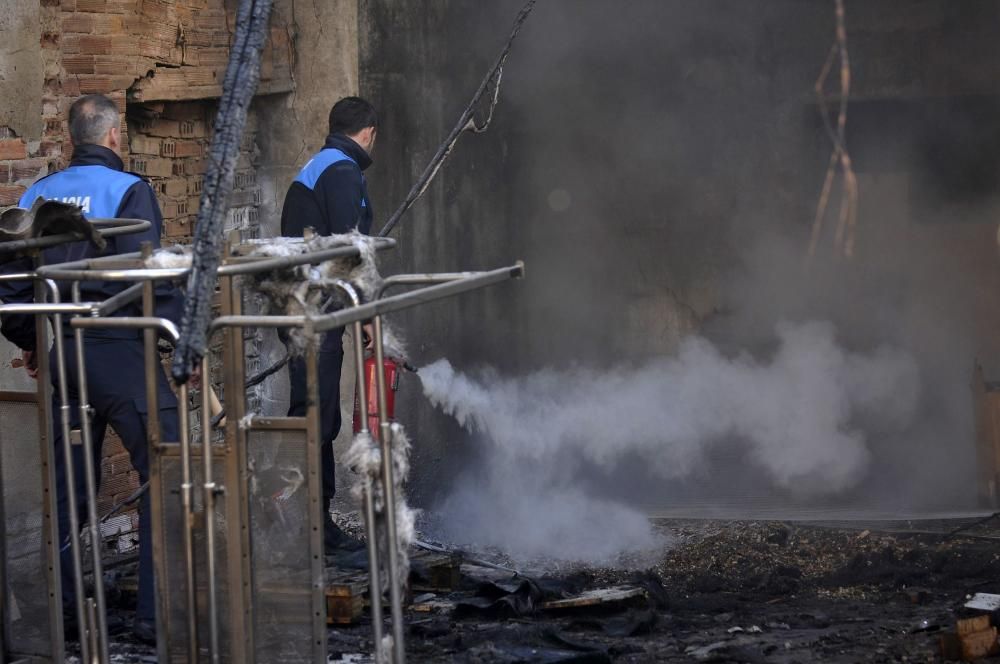
[[[826,128],[826,132],[833,143],[833,151],[830,154],[830,164],[826,170],[826,178],[823,181],[823,189],[820,192],[819,204],[816,207],[816,218],[813,220],[807,256],[809,259],[816,254],[838,166],[840,167],[843,185],[841,189],[840,218],[837,221],[837,227],[834,232],[834,247],[838,252],[843,252],[847,258],[851,258],[854,255],[855,231],[858,220],[858,179],[854,174],[851,155],[847,151],[846,136],[847,106],[851,94],[851,62],[847,52],[844,0],[834,0],[834,9],[837,19],[836,39],[833,46],[830,47],[830,53],[827,55],[826,62],[820,71],[815,85],[819,110],[823,117],[823,126]],[[840,61],[840,104],[836,124],[834,124],[830,107],[827,103],[826,83],[838,59]]]

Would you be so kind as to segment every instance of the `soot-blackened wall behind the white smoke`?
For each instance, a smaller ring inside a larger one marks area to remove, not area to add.
[[[457,119],[520,5],[361,0],[361,89],[383,118],[377,218]],[[834,41],[833,2],[540,2],[492,129],[460,141],[402,222],[393,259],[424,271],[523,258],[527,279],[400,316],[415,363],[507,374],[641,364],[696,332],[766,352],[777,321],[830,320],[850,347],[917,355],[922,408],[935,413],[913,449],[879,453],[885,475],[860,493],[933,478],[935,499],[966,504],[973,358],[1000,368],[990,334],[1000,316],[986,295],[1000,276],[996,201],[982,185],[998,141],[979,131],[995,124],[1000,92],[996,14],[985,1],[847,3],[857,250],[850,260],[834,250],[835,188],[807,263],[830,154],[813,85]],[[834,98],[838,84],[835,69]],[[432,504],[474,454],[416,381],[405,389],[414,490]],[[739,476],[744,462],[671,499]],[[629,472],[622,487],[665,500],[641,468]],[[730,494],[713,493],[740,498]]]

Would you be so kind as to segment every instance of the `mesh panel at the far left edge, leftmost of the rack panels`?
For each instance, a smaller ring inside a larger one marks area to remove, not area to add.
[[[8,647],[22,655],[52,653],[38,411],[34,403],[0,401],[0,454],[6,529]]]

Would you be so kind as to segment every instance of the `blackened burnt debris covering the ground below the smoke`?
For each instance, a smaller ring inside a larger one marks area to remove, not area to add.
[[[660,521],[657,528],[670,548],[639,571],[563,564],[515,575],[418,553],[409,659],[942,661],[941,635],[968,615],[968,597],[1000,591],[996,533],[982,528],[952,538],[778,522]],[[363,572],[331,570],[338,574]],[[331,662],[370,661],[367,613],[331,625],[329,649]],[[128,661],[153,654],[127,641],[113,652]]]

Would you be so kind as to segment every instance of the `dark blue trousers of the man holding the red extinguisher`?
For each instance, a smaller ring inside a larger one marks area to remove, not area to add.
[[[333,441],[340,433],[340,371],[344,365],[344,329],[331,330],[323,336],[317,354],[319,378],[320,460],[323,478],[323,509],[327,510],[336,493]],[[291,395],[289,417],[306,414],[306,363],[301,357],[288,363]],[[329,528],[327,529],[329,530]]]

